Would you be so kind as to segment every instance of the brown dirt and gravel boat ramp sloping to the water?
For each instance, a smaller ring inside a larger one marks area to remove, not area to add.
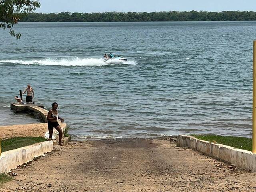
[[[1,192],[256,191],[256,173],[166,139],[70,142],[15,172]]]

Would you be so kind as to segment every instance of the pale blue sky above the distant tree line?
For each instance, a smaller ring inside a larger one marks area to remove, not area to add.
[[[36,12],[256,11],[256,0],[39,0]]]

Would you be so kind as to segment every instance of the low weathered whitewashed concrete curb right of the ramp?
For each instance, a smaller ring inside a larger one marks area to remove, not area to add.
[[[253,154],[251,151],[237,149],[222,144],[214,144],[186,135],[178,136],[177,146],[188,147],[208,156],[230,162],[231,164],[248,171],[256,172],[256,154]]]

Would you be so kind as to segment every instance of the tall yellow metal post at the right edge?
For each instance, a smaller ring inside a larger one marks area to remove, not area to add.
[[[256,153],[256,40],[253,41],[252,153]]]

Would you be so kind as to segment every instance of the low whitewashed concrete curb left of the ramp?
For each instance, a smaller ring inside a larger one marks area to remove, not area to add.
[[[0,173],[9,172],[44,153],[52,152],[53,142],[45,141],[30,146],[2,152],[0,156]]]

